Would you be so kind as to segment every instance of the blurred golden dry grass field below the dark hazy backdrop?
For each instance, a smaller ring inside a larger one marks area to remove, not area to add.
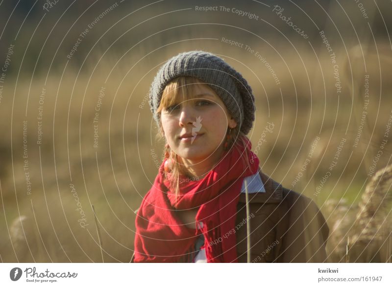
[[[164,146],[155,140],[149,84],[170,56],[199,49],[220,54],[252,86],[252,149],[266,174],[318,204],[330,228],[329,260],[391,262],[390,41],[336,44],[338,93],[324,45],[267,37],[277,53],[242,33],[231,37],[261,54],[279,84],[254,53],[221,41],[224,27],[215,35],[184,27],[187,40],[162,35],[159,48],[148,39],[123,53],[98,45],[85,62],[64,61],[67,48],[52,70],[14,67],[0,102],[0,260],[130,261],[134,210]]]

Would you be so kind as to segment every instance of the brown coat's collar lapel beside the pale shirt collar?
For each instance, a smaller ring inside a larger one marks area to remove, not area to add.
[[[282,185],[275,182],[270,176],[266,175],[259,168],[259,174],[261,181],[264,184],[266,192],[256,192],[250,193],[249,202],[250,203],[279,203],[283,199]],[[246,203],[245,193],[240,194],[240,202]]]

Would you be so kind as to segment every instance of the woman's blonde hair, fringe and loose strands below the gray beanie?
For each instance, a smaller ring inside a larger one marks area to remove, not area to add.
[[[174,103],[176,103],[177,100],[179,100],[178,97],[180,95],[182,95],[182,97],[183,97],[181,99],[181,101],[194,99],[195,98],[195,96],[194,96],[195,84],[205,84],[205,83],[200,81],[199,79],[193,78],[193,77],[178,77],[178,78],[172,79],[172,81],[170,81],[166,85],[165,89],[163,90],[162,99],[161,99],[161,102],[156,110],[156,113],[159,114],[159,113],[161,113],[161,111],[164,108],[172,106]],[[205,85],[209,89],[211,89],[214,93],[216,93],[210,86],[208,86],[207,84],[205,84]],[[242,131],[240,131],[240,125],[237,125],[236,128],[231,129],[231,135],[232,135],[231,139],[227,142],[228,143],[227,149],[231,149],[234,147],[238,150],[239,143],[241,143],[243,146],[245,146],[247,141],[249,140],[247,138],[247,136]],[[166,140],[161,121],[159,122],[159,132],[157,134],[156,139],[157,140]],[[179,163],[178,155],[176,155],[171,150],[170,146],[167,143],[166,143],[165,149],[163,151],[163,157],[164,157],[164,160],[165,160],[165,158],[168,158],[170,160],[169,162],[172,162],[171,172],[170,172],[171,177],[168,177],[166,172],[165,172],[164,176],[165,176],[165,178],[169,178],[171,190],[176,195],[176,199],[178,199],[179,176],[184,175],[184,176],[188,176],[188,178],[189,178],[188,170],[181,163]],[[245,154],[243,154],[243,156],[242,156],[242,160],[245,164],[247,164],[247,166],[250,167],[246,149],[245,149]]]

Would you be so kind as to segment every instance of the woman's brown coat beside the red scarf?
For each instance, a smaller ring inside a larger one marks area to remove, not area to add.
[[[260,170],[265,193],[245,194],[237,205],[236,235],[239,262],[247,261],[247,223],[250,224],[250,262],[324,262],[329,228],[310,198],[284,188]],[[133,256],[132,260],[133,262]]]

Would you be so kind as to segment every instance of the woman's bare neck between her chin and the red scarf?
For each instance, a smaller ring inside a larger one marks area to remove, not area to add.
[[[188,159],[182,158],[186,176],[194,178],[194,180],[203,179],[219,162],[223,154],[223,147],[218,148],[211,156],[204,159]]]

